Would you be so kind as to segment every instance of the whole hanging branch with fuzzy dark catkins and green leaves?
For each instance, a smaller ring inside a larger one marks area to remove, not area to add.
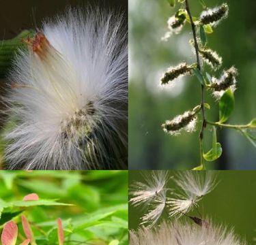
[[[175,0],[167,0],[171,7],[175,6]],[[200,148],[200,165],[195,167],[195,170],[205,169],[205,161],[215,161],[222,154],[221,144],[216,139],[216,127],[237,129],[246,137],[253,146],[256,146],[256,139],[248,133],[248,129],[255,129],[256,119],[253,119],[246,125],[230,125],[225,122],[231,116],[235,106],[234,91],[236,90],[236,78],[238,71],[236,67],[230,67],[223,70],[220,78],[210,76],[209,73],[203,72],[203,65],[209,65],[213,71],[219,69],[223,63],[221,56],[215,51],[207,47],[207,34],[211,34],[221,20],[227,17],[229,7],[227,3],[223,3],[218,7],[209,9],[206,7],[204,1],[201,1],[203,12],[196,18],[190,12],[189,0],[177,0],[183,8],[177,10],[174,16],[168,20],[169,31],[163,39],[168,39],[172,34],[180,33],[182,27],[186,22],[190,24],[193,39],[190,44],[195,50],[197,63],[188,65],[187,63],[180,63],[176,67],[170,67],[167,72],[162,76],[162,85],[169,84],[169,82],[185,75],[195,75],[201,84],[201,101],[193,110],[184,112],[179,116],[175,116],[172,120],[167,120],[162,124],[162,129],[170,135],[178,135],[181,131],[194,131],[197,122],[197,116],[201,113],[202,124],[199,132],[199,148]],[[205,91],[211,91],[212,95],[216,98],[219,106],[219,120],[211,122],[205,116],[205,108],[210,109],[210,105],[205,103]],[[212,126],[212,148],[204,153],[203,150],[203,135],[207,125]]]

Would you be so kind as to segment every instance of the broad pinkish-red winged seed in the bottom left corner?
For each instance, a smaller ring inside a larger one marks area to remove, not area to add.
[[[18,236],[18,227],[11,220],[3,227],[3,233],[1,235],[1,241],[3,245],[15,245]]]

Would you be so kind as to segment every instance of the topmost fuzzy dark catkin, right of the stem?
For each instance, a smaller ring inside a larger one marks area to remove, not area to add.
[[[201,13],[200,22],[202,24],[211,24],[216,26],[223,18],[226,18],[229,12],[229,6],[227,3],[223,3],[221,6],[214,7],[213,9],[205,10]]]

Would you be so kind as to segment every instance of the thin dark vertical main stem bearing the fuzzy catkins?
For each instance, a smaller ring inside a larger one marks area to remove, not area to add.
[[[190,12],[188,0],[186,0],[185,3],[186,3],[186,12],[188,12],[191,29],[193,32],[193,39],[194,39],[194,43],[195,43],[195,54],[197,56],[197,69],[199,69],[199,71],[201,71],[200,58],[199,58],[199,46],[198,46],[198,42],[197,42],[197,33],[196,33],[196,29],[195,29],[196,27],[195,27],[195,23],[193,21],[193,18],[192,18],[191,12]],[[206,118],[205,118],[205,108],[204,108],[204,86],[203,86],[203,84],[201,84],[201,111],[202,111],[203,122],[202,122],[201,131],[199,134],[200,160],[201,160],[201,165],[203,166],[203,169],[205,169],[205,164],[203,161],[203,130],[205,129],[205,126],[206,126]]]

